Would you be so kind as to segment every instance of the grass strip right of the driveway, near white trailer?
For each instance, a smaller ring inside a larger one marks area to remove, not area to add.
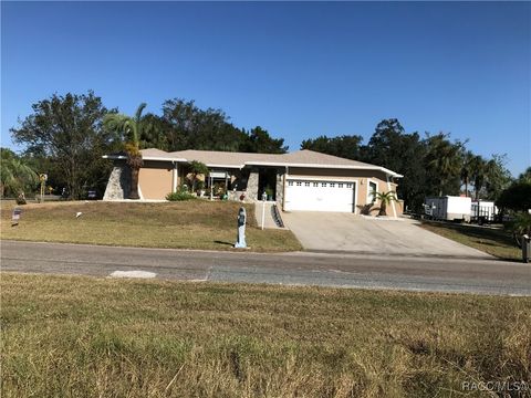
[[[426,220],[420,227],[502,260],[522,260],[522,252],[514,245],[514,240],[501,229]]]

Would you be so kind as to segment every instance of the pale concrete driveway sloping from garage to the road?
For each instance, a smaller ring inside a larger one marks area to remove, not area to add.
[[[365,218],[336,212],[284,212],[282,220],[306,250],[378,255],[491,259],[418,227],[409,219]]]

